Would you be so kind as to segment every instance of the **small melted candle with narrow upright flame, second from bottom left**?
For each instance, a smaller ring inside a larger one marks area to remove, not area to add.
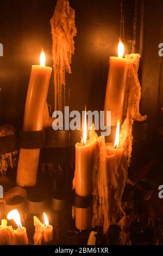
[[[44,223],[39,218],[34,216],[35,234],[34,244],[41,245],[44,240],[46,243],[53,241],[53,226],[49,225],[48,218],[43,212]]]

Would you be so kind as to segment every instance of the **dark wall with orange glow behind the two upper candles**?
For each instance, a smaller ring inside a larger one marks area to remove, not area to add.
[[[55,0],[0,0],[0,120],[21,129],[24,104],[32,64],[39,64],[41,46],[46,53],[46,65],[52,67],[52,36],[49,20]],[[149,139],[163,126],[163,66],[158,56],[162,42],[161,0],[136,1],[138,5],[136,51],[141,51],[142,81],[141,113],[148,115]],[[142,3],[144,2],[144,11]],[[120,36],[120,0],[70,0],[76,11],[77,37],[72,58],[72,74],[66,75],[70,109],[103,110],[109,56],[117,56]],[[133,38],[134,0],[123,1],[124,41]],[[141,14],[143,19],[141,19]],[[140,26],[141,24],[141,26]],[[143,34],[143,37],[140,35]],[[143,39],[143,40],[142,40]],[[53,78],[48,104],[53,109]]]

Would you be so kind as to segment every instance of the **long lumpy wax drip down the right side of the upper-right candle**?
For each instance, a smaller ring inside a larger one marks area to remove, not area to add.
[[[140,62],[140,54],[131,53],[126,55],[125,58],[130,60],[128,70],[128,78],[126,85],[126,96],[124,98],[123,108],[123,124],[120,134],[120,145],[124,147],[124,154],[126,154],[127,167],[130,165],[130,158],[133,145],[133,123],[134,121],[146,120],[147,116],[141,116],[139,111],[139,104],[141,99],[141,86],[138,78],[138,69]],[[126,166],[124,166],[126,168]]]

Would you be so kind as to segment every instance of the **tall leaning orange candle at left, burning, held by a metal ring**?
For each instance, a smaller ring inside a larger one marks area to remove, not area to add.
[[[52,68],[45,66],[45,54],[42,52],[40,56],[40,66],[33,65],[30,74],[24,111],[24,131],[38,131],[43,128],[46,98],[51,73]],[[19,186],[35,186],[39,155],[40,149],[20,149],[16,180]]]

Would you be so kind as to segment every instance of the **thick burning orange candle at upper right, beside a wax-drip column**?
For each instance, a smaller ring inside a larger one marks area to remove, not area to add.
[[[118,57],[110,57],[108,83],[105,94],[105,111],[111,111],[111,126],[122,122],[123,102],[126,91],[128,66],[130,61],[123,58],[124,45],[118,44]]]

